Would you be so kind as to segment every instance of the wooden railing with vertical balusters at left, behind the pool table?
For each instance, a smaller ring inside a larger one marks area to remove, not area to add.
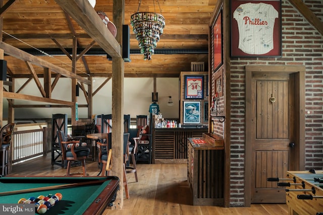
[[[14,131],[12,139],[12,163],[19,163],[51,152],[51,129],[47,123],[18,124],[16,127],[37,129]],[[43,127],[47,126],[47,127]]]

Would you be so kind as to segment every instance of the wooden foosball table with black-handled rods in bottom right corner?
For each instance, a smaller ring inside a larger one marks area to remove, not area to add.
[[[287,178],[267,178],[286,187],[289,215],[323,215],[323,170],[287,171]]]

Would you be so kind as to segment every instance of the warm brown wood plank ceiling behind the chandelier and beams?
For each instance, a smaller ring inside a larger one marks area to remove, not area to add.
[[[155,1],[156,13],[160,13]],[[73,37],[77,39],[77,53],[88,50],[77,60],[76,74],[82,77],[111,77],[112,61],[103,49],[56,3],[55,0],[9,0],[13,3],[2,10],[3,41],[37,55],[43,60],[72,71]],[[8,3],[8,4],[9,4]],[[166,19],[164,34],[160,36],[151,60],[138,54],[138,42],[130,26],[130,17],[137,12],[138,0],[125,0],[125,24],[130,27],[130,58],[125,62],[125,77],[179,77],[189,71],[192,61],[205,62],[208,57],[208,26],[217,0],[160,1],[161,14]],[[113,0],[96,0],[95,11],[103,11],[113,22]],[[153,0],[142,0],[140,11],[153,12]],[[46,56],[45,52],[51,56]],[[25,61],[5,55],[8,75],[31,78]],[[43,68],[34,67],[38,77]]]

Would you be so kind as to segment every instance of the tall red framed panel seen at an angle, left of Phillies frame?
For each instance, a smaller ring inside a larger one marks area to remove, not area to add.
[[[223,64],[223,18],[222,9],[212,25],[212,71]]]

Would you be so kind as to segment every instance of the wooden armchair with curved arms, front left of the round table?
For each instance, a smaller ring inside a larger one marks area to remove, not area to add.
[[[81,161],[83,176],[86,176],[85,159],[87,159],[87,157],[89,156],[90,149],[88,149],[82,144],[82,142],[80,142],[81,138],[67,138],[63,130],[57,131],[57,136],[59,138],[63,160],[67,161],[66,176],[80,175],[79,173],[70,174],[71,161]]]

